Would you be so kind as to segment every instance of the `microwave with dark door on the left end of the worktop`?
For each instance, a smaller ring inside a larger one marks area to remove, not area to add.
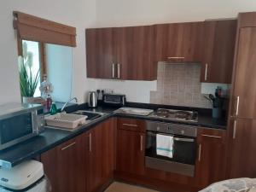
[[[0,105],[0,150],[44,131],[44,108],[38,104]]]

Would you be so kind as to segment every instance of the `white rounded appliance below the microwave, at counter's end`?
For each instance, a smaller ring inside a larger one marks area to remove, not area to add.
[[[28,160],[11,169],[0,168],[1,192],[48,192],[48,185],[44,177],[44,166],[36,160]]]

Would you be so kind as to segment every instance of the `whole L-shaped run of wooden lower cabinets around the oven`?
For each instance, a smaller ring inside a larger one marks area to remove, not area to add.
[[[241,134],[243,125],[251,123],[240,121],[237,125],[236,150],[241,142],[246,146],[253,141]],[[247,130],[248,134],[252,133],[252,129]],[[195,192],[226,178],[226,131],[198,129],[195,177],[146,167],[146,142],[146,121],[108,119],[41,154],[41,160],[53,192],[98,192],[113,178],[160,191]],[[235,166],[240,162],[237,154],[242,156],[243,153],[241,150],[233,153],[236,160],[232,160],[232,165]],[[242,173],[241,169],[233,172],[236,176],[244,175]]]

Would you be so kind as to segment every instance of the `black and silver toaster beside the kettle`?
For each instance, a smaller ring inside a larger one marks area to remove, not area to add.
[[[104,94],[103,103],[112,106],[125,106],[126,96],[123,94]]]

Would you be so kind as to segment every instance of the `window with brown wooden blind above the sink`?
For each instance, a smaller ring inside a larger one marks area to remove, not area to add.
[[[17,33],[18,54],[23,55],[24,58],[19,59],[19,63],[23,61],[23,65],[22,63],[19,65],[21,66],[21,96],[41,96],[39,87],[46,74],[54,88],[51,94],[53,100],[67,102],[72,95],[73,47],[76,46],[76,28],[18,11],[14,11],[13,24]],[[24,65],[26,61],[30,61],[28,63],[31,64]],[[37,86],[30,86],[29,80],[26,81],[30,76],[38,77]],[[33,91],[24,91],[30,90],[31,87],[35,88],[34,94]],[[31,94],[23,94],[26,92]],[[32,102],[34,101],[39,102],[37,99]]]

